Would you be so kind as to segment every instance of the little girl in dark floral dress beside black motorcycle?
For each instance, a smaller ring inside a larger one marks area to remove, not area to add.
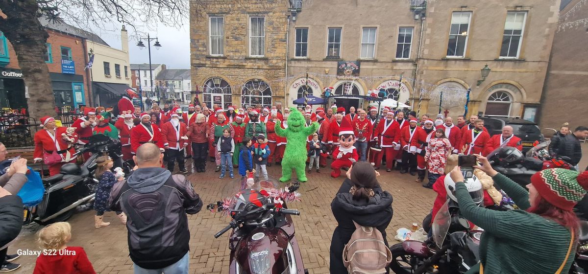
[[[118,180],[116,179],[115,174],[111,171],[114,163],[108,156],[100,156],[96,158],[96,165],[98,165],[98,167],[96,167],[94,175],[95,178],[98,178],[99,182],[94,200],[94,210],[96,211],[96,216],[94,216],[94,227],[101,228],[102,226],[110,225],[109,222],[104,222],[102,219],[104,218],[104,212],[110,211],[107,203],[112,186],[116,184],[117,181],[125,180],[125,178],[120,177]],[[122,211],[116,211],[116,216],[123,224],[126,224],[126,215]]]

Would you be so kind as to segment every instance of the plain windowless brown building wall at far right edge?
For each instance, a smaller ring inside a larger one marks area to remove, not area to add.
[[[547,80],[540,109],[542,128],[588,126],[588,5],[582,0],[563,0],[560,28],[555,33]]]

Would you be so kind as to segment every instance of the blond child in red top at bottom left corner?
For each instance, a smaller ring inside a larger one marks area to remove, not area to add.
[[[39,231],[37,243],[46,252],[37,258],[33,274],[96,274],[81,246],[67,246],[72,238],[71,229],[67,222],[56,222]]]

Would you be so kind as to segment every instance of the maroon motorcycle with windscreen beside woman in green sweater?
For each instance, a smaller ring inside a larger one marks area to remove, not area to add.
[[[432,229],[433,241],[407,240],[390,246],[390,270],[396,274],[465,273],[479,262],[482,231],[470,229],[455,201],[447,199]]]

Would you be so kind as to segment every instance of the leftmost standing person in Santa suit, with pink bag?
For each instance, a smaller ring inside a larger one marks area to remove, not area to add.
[[[45,125],[51,120],[55,119],[53,117],[45,116],[41,118],[41,124]],[[62,158],[61,163],[49,165],[50,176],[59,174],[62,165],[66,163],[75,163],[76,161],[75,157],[72,155],[75,153],[75,147],[73,144],[78,141],[78,134],[74,132],[71,136],[67,136],[68,138],[74,139],[74,141],[70,143],[64,136],[62,136],[63,133],[66,133],[66,129],[66,127],[56,127],[55,135],[51,134],[51,131],[46,129],[39,130],[35,133],[35,151],[33,153],[35,160],[43,160],[44,153],[52,154],[53,151],[57,151]]]

